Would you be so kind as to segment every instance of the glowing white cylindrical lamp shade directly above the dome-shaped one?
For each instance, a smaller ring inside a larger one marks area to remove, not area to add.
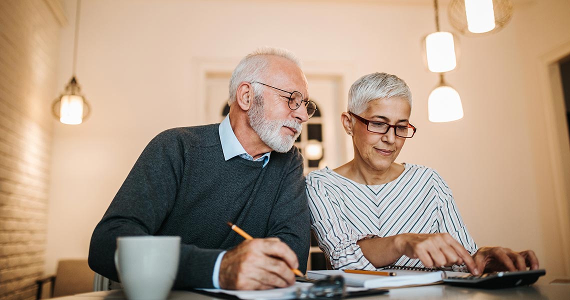
[[[453,34],[437,31],[425,38],[427,68],[434,73],[451,71],[457,66]]]

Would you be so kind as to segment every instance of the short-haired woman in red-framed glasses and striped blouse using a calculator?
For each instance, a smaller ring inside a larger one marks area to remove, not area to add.
[[[352,84],[341,121],[355,157],[307,176],[311,228],[332,267],[538,269],[532,250],[478,249],[445,180],[423,165],[394,163],[416,133],[411,111],[412,94],[397,76],[374,73]]]

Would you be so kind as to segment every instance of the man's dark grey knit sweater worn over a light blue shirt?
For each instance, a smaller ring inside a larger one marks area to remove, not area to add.
[[[174,287],[213,287],[218,254],[243,241],[230,221],[253,237],[280,238],[306,270],[311,224],[298,149],[271,153],[265,168],[225,161],[218,126],[173,128],[150,141],[93,231],[91,269],[118,280],[117,237],[180,236]]]

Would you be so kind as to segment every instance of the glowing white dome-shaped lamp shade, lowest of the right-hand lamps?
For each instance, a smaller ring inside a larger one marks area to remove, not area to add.
[[[463,106],[459,93],[450,86],[438,86],[427,99],[428,119],[434,123],[459,120],[463,117]]]

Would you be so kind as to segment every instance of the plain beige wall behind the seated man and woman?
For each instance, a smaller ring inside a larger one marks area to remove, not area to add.
[[[74,11],[74,1],[64,3]],[[534,249],[548,277],[569,277],[570,237],[560,226],[570,183],[559,174],[564,168],[552,167],[568,145],[555,151],[564,135],[544,134],[557,114],[544,108],[552,96],[541,70],[544,55],[570,42],[570,2],[522,3],[499,34],[461,37],[459,67],[446,79],[462,96],[465,118],[434,124],[426,99],[438,78],[420,46],[434,30],[431,1],[84,1],[78,76],[92,116],[54,125],[47,270],[58,258],[87,256],[94,226],[154,135],[217,121],[205,113],[205,72],[231,71],[241,56],[271,45],[296,52],[314,76],[341,78],[343,102],[361,75],[404,78],[420,129],[398,160],[442,174],[479,245]],[[442,28],[450,29],[446,20]],[[62,36],[58,86],[70,76],[72,30]],[[341,106],[327,107],[326,118],[338,120],[330,114]],[[350,153],[344,141],[337,147]]]

